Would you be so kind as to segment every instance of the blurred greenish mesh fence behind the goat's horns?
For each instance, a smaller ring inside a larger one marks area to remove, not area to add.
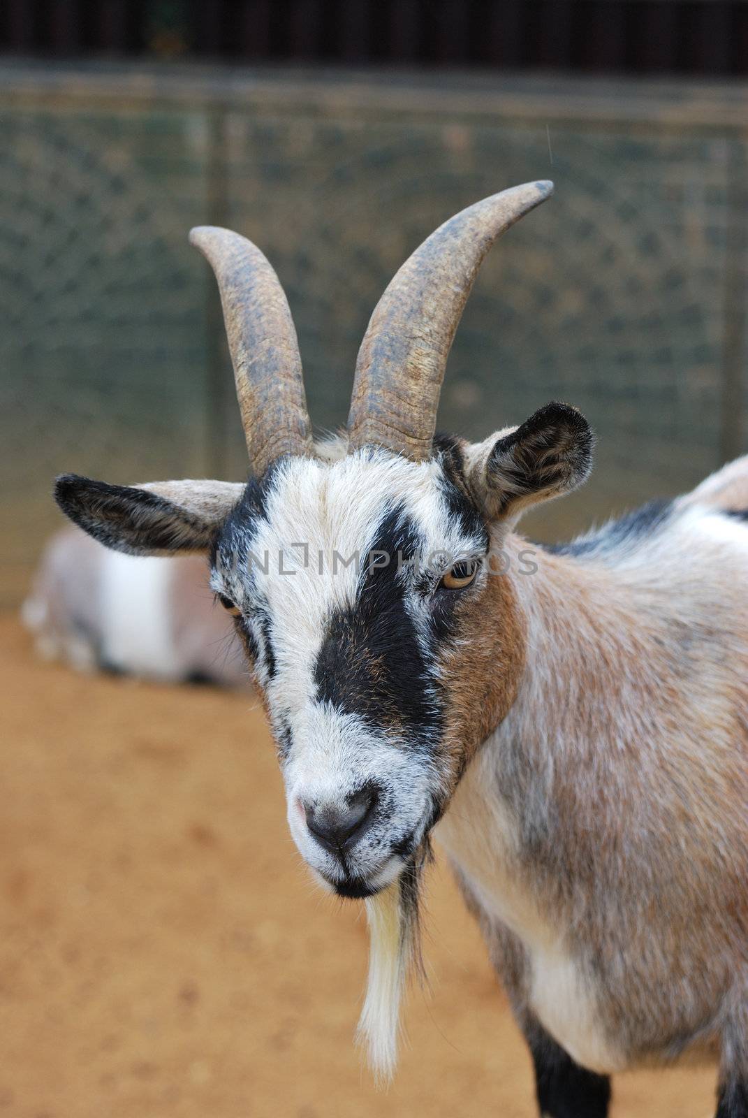
[[[746,100],[517,80],[0,72],[3,597],[63,471],[242,477],[212,278],[190,226],[255,239],[288,294],[312,416],[406,255],[463,206],[553,178],[486,260],[439,424],[484,437],[552,398],[597,471],[531,524],[566,534],[748,448]]]

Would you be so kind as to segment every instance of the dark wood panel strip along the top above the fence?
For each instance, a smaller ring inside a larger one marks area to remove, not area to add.
[[[748,74],[748,0],[4,0],[0,49]]]

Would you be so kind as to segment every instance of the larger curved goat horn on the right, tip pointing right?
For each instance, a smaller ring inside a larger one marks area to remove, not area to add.
[[[552,193],[528,182],[470,206],[415,250],[363,335],[348,417],[351,449],[368,443],[430,456],[444,370],[463,307],[493,243]]]

